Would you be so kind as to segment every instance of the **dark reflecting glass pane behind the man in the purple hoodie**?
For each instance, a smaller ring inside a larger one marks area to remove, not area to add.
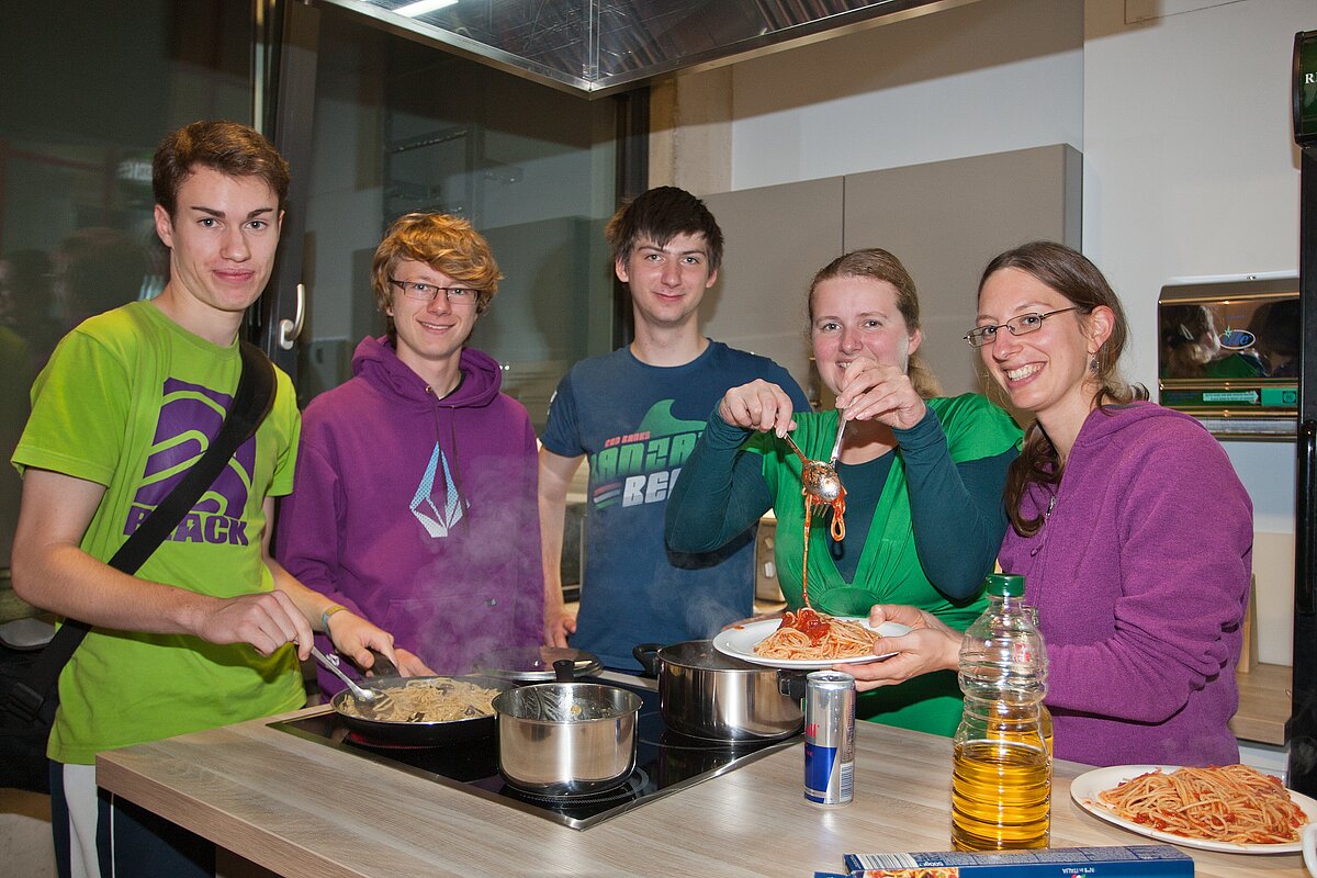
[[[383,332],[369,269],[386,226],[439,211],[493,246],[504,280],[470,344],[503,365],[504,392],[543,426],[566,369],[612,345],[603,224],[618,200],[618,100],[568,95],[332,7],[313,12],[313,109],[290,111],[311,120],[309,137],[299,147],[277,132],[281,149],[309,159],[295,201],[307,291],[299,400],[350,378],[357,344]]]

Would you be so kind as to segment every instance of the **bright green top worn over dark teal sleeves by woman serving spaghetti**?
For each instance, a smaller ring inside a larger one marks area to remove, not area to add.
[[[1019,428],[984,396],[965,394],[934,398],[926,403],[942,424],[952,463],[996,457],[1019,441]],[[836,412],[797,412],[795,423],[792,436],[801,450],[811,459],[826,459],[836,437]],[[747,450],[756,450],[764,457],[764,480],[774,498],[773,513],[777,517],[774,558],[778,583],[788,606],[795,608],[803,603],[805,502],[801,496],[801,462],[794,454],[781,453],[781,444],[763,440],[747,445]],[[968,602],[947,600],[928,582],[915,549],[910,492],[900,453],[893,453],[890,466],[852,582],[846,582],[828,553],[832,513],[813,519],[810,604],[834,616],[867,616],[869,607],[878,603],[910,604],[964,631],[984,611],[986,602],[981,594]],[[856,536],[849,533],[847,541]],[[952,671],[925,674],[863,695],[856,710],[860,716],[888,725],[950,736],[960,720],[960,688]]]

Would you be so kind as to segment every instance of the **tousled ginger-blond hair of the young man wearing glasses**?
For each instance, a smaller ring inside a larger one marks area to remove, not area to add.
[[[477,315],[489,311],[498,282],[503,279],[489,242],[470,222],[448,213],[406,213],[389,226],[370,262],[375,304],[386,315],[392,301],[389,278],[403,259],[424,262],[435,271],[470,284],[475,290]],[[392,319],[389,320],[389,337],[394,337]]]

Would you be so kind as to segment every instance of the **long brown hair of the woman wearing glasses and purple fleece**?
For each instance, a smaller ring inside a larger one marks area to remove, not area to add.
[[[1097,391],[1093,394],[1093,405],[1104,408],[1108,403],[1122,405],[1148,398],[1147,390],[1129,384],[1119,376],[1117,362],[1125,351],[1129,321],[1125,319],[1121,300],[1106,278],[1083,253],[1054,241],[1034,241],[1006,250],[984,269],[979,279],[980,295],[988,278],[1002,269],[1023,271],[1060,294],[1079,311],[1081,321],[1093,313],[1094,308],[1112,309],[1112,334],[1097,349],[1094,357],[1097,369],[1093,378],[1097,382]],[[1010,465],[1006,475],[1006,513],[1010,516],[1011,527],[1021,536],[1033,536],[1043,527],[1043,516],[1026,519],[1021,515],[1019,504],[1029,486],[1059,484],[1063,466],[1051,440],[1035,420],[1025,430],[1023,450]]]

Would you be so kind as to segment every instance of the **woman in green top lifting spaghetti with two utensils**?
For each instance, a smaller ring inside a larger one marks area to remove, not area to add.
[[[756,380],[727,391],[668,499],[668,545],[710,552],[769,508],[777,516],[778,582],[802,604],[805,503],[792,437],[826,459],[838,417],[847,426],[838,474],[847,491],[846,537],[826,519],[810,533],[810,604],[865,616],[909,603],[964,629],[982,611],[981,583],[1006,529],[1002,487],[1019,429],[982,396],[940,396],[918,355],[919,300],[901,262],[856,250],[822,269],[809,292],[810,341],[836,411],[793,413],[786,394]],[[760,430],[756,433],[756,430]],[[859,715],[952,735],[960,692],[951,671],[861,695]]]

